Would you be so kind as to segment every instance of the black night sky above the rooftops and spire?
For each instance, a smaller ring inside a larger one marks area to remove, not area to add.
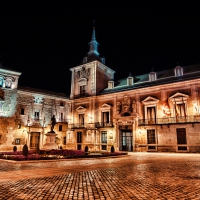
[[[22,72],[19,85],[69,94],[69,69],[89,51],[93,20],[115,80],[200,63],[197,5],[86,2],[1,6],[2,65]]]

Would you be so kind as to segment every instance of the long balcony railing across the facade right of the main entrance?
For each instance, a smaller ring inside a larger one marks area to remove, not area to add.
[[[156,119],[139,119],[138,126],[144,125],[164,125],[164,124],[180,124],[180,123],[199,123],[200,115],[179,116],[179,117],[163,117]]]

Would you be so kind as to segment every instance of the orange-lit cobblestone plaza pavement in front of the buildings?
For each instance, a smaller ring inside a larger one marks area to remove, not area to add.
[[[104,159],[0,160],[0,199],[198,199],[200,154],[129,153]]]

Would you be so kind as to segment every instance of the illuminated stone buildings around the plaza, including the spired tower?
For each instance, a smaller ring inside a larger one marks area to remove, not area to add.
[[[93,29],[83,62],[70,69],[71,93],[17,86],[0,67],[0,150],[42,149],[56,116],[56,144],[67,149],[200,152],[200,64],[114,81]]]

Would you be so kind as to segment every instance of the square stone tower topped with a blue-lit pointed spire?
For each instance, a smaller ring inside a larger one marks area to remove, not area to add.
[[[71,68],[71,99],[98,95],[114,79],[112,69],[105,65],[105,58],[99,56],[95,27],[89,42],[89,52],[79,66]]]

